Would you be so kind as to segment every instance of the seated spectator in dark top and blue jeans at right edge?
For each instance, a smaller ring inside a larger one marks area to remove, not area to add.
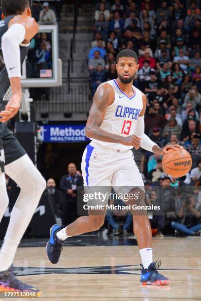
[[[195,207],[195,198],[192,195],[187,196],[178,212],[178,217],[182,218],[182,220],[180,223],[172,221],[172,228],[185,233],[187,236],[200,236],[201,205],[198,207],[198,210],[196,210]]]

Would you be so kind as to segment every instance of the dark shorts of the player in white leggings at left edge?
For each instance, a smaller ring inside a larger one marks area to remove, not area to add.
[[[17,138],[6,125],[0,122],[0,139],[5,154],[5,165],[19,159],[26,154]]]

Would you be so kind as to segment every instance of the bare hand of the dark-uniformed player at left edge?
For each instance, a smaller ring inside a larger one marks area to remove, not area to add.
[[[0,122],[6,122],[17,114],[20,109],[21,99],[22,94],[20,93],[12,96],[5,107],[5,111],[0,112]]]

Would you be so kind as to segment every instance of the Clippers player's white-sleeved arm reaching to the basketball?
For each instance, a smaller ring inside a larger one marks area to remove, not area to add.
[[[183,149],[179,145],[167,145],[163,149],[160,148],[155,142],[153,142],[145,133],[144,133],[144,114],[146,110],[146,96],[142,93],[143,109],[140,112],[140,115],[137,120],[135,134],[141,138],[140,147],[146,151],[152,151],[157,154],[163,155],[167,153],[168,149]]]

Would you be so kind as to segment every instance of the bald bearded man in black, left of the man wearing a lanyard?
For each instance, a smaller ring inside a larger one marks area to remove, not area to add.
[[[55,216],[62,217],[64,197],[62,192],[56,188],[56,183],[54,179],[47,180],[46,192],[49,195],[51,208],[53,209]]]

